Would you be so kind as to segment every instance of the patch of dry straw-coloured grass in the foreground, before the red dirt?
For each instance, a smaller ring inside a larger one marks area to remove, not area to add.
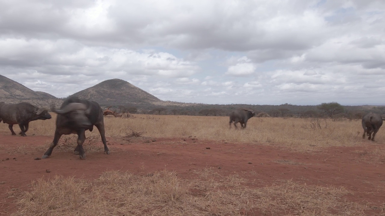
[[[211,169],[180,179],[171,171],[144,176],[109,171],[99,179],[55,176],[38,179],[19,193],[13,216],[69,215],[363,215],[365,204],[344,198],[343,187],[277,181],[271,186],[245,186],[238,175],[221,176]],[[17,192],[13,192],[17,193]],[[377,207],[383,208],[383,206]]]

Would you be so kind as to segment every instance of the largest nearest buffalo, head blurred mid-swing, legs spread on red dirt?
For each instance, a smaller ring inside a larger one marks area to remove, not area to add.
[[[49,149],[44,153],[42,158],[51,156],[52,150],[62,135],[77,134],[77,146],[74,154],[79,155],[80,159],[85,159],[85,151],[82,146],[85,141],[85,131],[92,131],[94,125],[99,130],[102,138],[104,153],[107,155],[110,154],[105,140],[103,111],[99,103],[70,96],[62,103],[60,110],[56,110],[54,106],[52,106],[51,109],[58,114],[56,118],[55,136]]]

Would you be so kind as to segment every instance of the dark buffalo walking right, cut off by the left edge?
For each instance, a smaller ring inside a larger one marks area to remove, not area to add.
[[[27,102],[4,104],[0,103],[0,122],[8,124],[8,128],[12,135],[16,135],[13,131],[13,125],[18,124],[20,127],[19,135],[27,136],[30,121],[50,119],[51,115],[44,108],[38,108]]]

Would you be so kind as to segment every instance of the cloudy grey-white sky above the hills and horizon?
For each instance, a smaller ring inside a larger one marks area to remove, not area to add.
[[[0,74],[65,97],[385,104],[383,0],[0,0]]]

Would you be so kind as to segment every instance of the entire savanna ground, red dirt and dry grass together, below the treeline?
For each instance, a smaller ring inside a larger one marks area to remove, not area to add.
[[[385,215],[385,128],[363,139],[360,120],[105,117],[110,155],[94,127],[85,160],[76,135],[39,160],[51,115],[27,137],[0,124],[1,215]]]

